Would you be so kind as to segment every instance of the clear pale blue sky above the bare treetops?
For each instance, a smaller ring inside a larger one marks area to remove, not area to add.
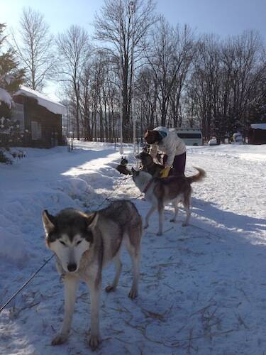
[[[45,16],[53,33],[72,24],[92,33],[95,11],[104,0],[0,0],[0,22],[16,27],[23,6],[31,6]],[[255,28],[266,38],[266,0],[157,0],[157,12],[172,24],[188,23],[198,33],[225,37]]]

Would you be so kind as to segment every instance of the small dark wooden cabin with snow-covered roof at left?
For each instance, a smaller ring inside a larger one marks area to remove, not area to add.
[[[12,118],[20,121],[24,146],[51,148],[65,144],[62,114],[65,106],[28,87],[13,95]]]

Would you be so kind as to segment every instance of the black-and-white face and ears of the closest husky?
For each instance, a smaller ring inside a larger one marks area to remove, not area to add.
[[[55,252],[66,273],[79,269],[83,253],[93,242],[96,219],[96,213],[87,215],[75,209],[63,209],[57,216],[43,211],[46,244]]]

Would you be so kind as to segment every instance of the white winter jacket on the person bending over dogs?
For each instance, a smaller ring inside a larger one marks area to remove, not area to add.
[[[167,161],[165,165],[171,167],[174,162],[174,157],[187,151],[186,145],[184,141],[177,136],[177,133],[169,131],[165,127],[156,127],[153,131],[159,131],[160,135],[164,138],[162,138],[162,141],[158,144],[152,144],[150,148],[150,155],[155,158],[157,151],[167,154]]]

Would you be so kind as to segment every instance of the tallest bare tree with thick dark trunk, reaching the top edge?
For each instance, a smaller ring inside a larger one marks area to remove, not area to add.
[[[121,65],[123,97],[123,137],[131,139],[131,97],[133,78],[133,45],[135,62],[142,57],[143,43],[150,27],[155,23],[153,0],[135,0],[134,15],[130,11],[129,0],[106,0],[101,13],[94,21],[95,38],[105,44],[105,50]],[[121,6],[120,6],[121,5]]]

